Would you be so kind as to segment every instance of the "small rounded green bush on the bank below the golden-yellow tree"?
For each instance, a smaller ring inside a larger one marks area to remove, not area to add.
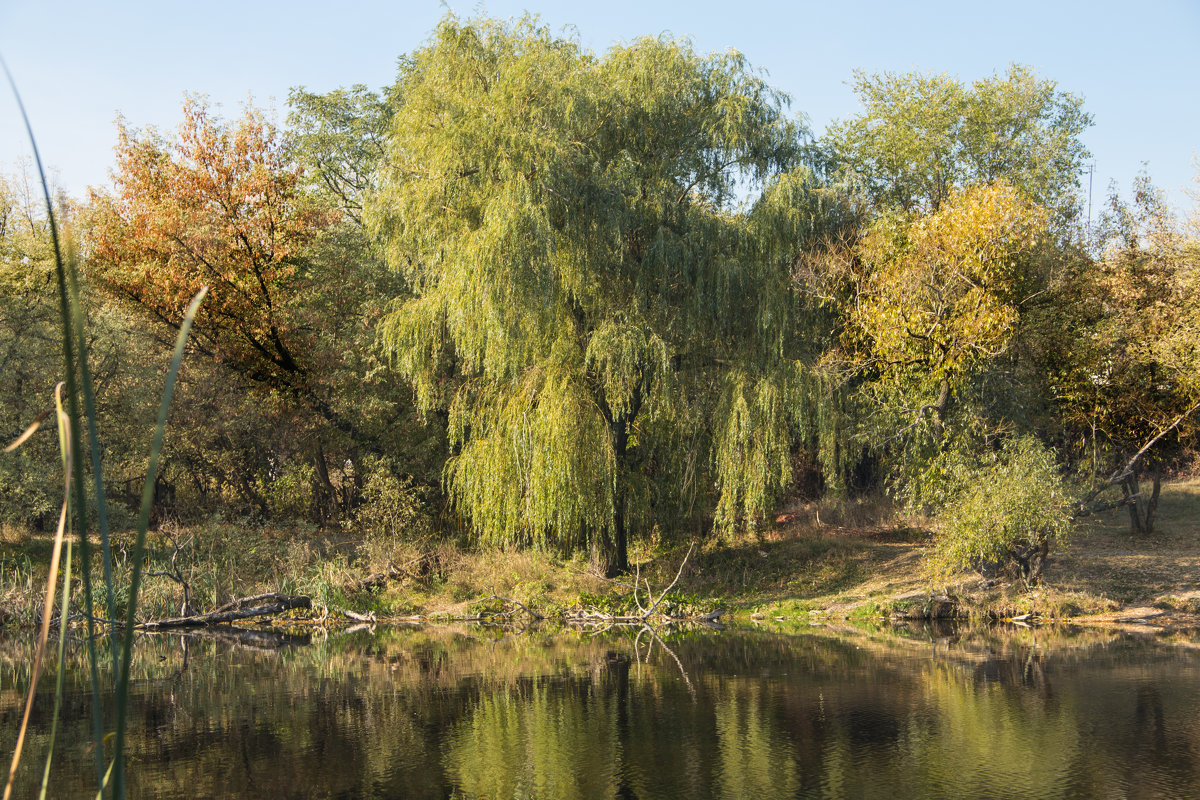
[[[949,473],[954,491],[941,515],[935,569],[995,570],[1037,584],[1050,548],[1070,533],[1070,494],[1054,452],[1026,435]]]

